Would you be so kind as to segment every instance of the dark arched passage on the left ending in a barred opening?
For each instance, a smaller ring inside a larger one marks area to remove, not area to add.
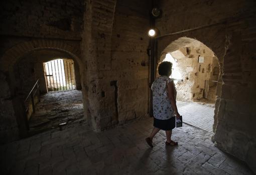
[[[37,50],[22,57],[14,73],[30,135],[84,119],[79,66],[70,55]]]

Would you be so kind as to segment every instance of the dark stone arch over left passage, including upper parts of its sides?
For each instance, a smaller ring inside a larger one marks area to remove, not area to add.
[[[54,40],[54,39],[34,39],[29,41],[21,42],[9,50],[7,50],[3,56],[0,58],[0,71],[9,74],[9,84],[12,93],[14,75],[13,69],[15,64],[25,57],[26,55],[31,54],[32,52],[40,51],[40,50],[56,50],[69,55],[72,59],[74,59],[79,67],[80,72],[80,82],[81,86],[83,86],[83,72],[84,66],[81,60],[81,51],[80,51],[80,41],[62,41],[62,40]],[[83,89],[83,87],[81,87]]]

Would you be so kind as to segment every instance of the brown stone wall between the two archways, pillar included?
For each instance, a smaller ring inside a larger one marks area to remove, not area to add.
[[[84,16],[86,117],[99,131],[148,113],[147,1],[91,1]]]

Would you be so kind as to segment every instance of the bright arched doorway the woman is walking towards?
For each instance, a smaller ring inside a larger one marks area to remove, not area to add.
[[[177,106],[184,122],[213,132],[220,65],[213,51],[198,40],[182,37],[161,53],[159,63],[170,61],[177,89]]]

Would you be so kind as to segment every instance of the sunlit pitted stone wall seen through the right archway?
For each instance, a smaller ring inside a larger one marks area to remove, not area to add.
[[[214,104],[219,76],[217,58],[210,50],[204,50],[204,54],[184,55],[182,49],[167,53],[163,60],[173,63],[170,78],[174,80],[179,92],[177,99]]]

